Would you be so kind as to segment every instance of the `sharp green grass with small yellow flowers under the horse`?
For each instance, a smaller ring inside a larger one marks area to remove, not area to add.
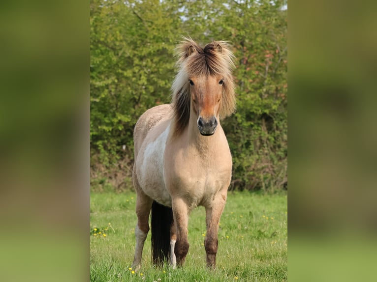
[[[228,194],[220,221],[215,271],[205,267],[205,210],[198,207],[189,217],[190,247],[184,267],[154,268],[149,233],[142,268],[133,273],[129,268],[135,250],[135,200],[133,192],[91,194],[92,282],[287,281],[286,192]]]

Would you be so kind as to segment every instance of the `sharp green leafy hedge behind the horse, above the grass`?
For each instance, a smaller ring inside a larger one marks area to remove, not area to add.
[[[181,36],[227,40],[237,58],[237,112],[222,122],[231,189],[287,183],[286,1],[91,1],[91,173],[94,189],[130,188],[133,127],[170,102]],[[105,183],[101,180],[107,179]]]

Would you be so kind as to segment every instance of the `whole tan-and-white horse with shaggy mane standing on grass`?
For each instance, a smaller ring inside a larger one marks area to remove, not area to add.
[[[236,107],[230,48],[224,41],[202,48],[184,37],[176,48],[178,73],[171,103],[147,110],[135,125],[135,270],[141,267],[150,213],[153,263],[169,262],[173,268],[184,264],[188,216],[199,205],[206,210],[207,267],[216,267],[219,222],[232,174],[220,125]]]

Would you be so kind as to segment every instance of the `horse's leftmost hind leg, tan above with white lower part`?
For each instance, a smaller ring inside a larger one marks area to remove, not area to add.
[[[135,246],[135,256],[132,263],[132,268],[135,268],[137,271],[140,268],[141,254],[143,252],[144,242],[147,238],[149,231],[149,213],[151,211],[153,200],[144,194],[141,190],[137,190],[136,198],[136,215],[137,215],[137,224],[135,227],[135,237],[136,237],[136,246]]]

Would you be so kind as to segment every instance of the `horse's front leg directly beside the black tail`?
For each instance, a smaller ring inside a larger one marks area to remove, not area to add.
[[[174,254],[177,265],[182,266],[188,253],[188,207],[181,198],[172,199],[174,225],[177,231],[177,241],[174,247]]]

